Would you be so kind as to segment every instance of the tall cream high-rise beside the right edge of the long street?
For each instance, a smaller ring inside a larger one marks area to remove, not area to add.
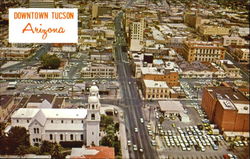
[[[143,47],[145,22],[142,18],[130,26],[130,51],[140,51]]]

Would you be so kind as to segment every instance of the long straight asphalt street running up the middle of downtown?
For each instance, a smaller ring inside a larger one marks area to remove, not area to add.
[[[157,152],[150,144],[150,138],[148,136],[146,127],[140,122],[142,115],[142,100],[140,99],[139,92],[136,85],[136,80],[132,78],[130,64],[126,52],[122,52],[121,48],[121,20],[123,13],[120,12],[115,18],[116,38],[117,43],[115,45],[115,56],[117,63],[118,79],[121,83],[122,101],[121,105],[127,107],[125,110],[125,123],[127,127],[127,139],[131,140],[132,145],[137,145],[138,151],[133,151],[132,147],[129,148],[130,158],[158,158]],[[138,128],[138,132],[134,131]],[[139,149],[143,148],[143,152],[139,152]]]

